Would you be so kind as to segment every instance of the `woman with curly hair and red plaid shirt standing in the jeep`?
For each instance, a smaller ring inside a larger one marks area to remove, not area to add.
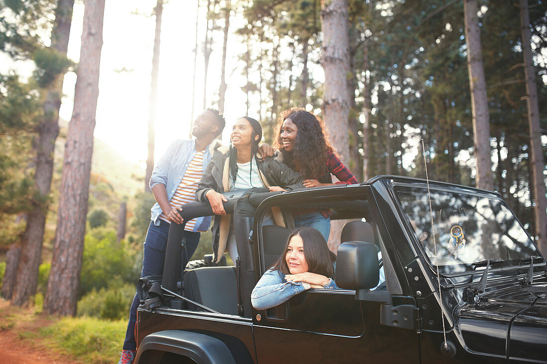
[[[340,181],[336,184],[356,184],[357,178],[334,154],[323,121],[302,108],[291,108],[281,113],[276,126],[278,160],[304,178],[304,186],[333,185],[331,174]],[[273,190],[271,187],[270,190]],[[293,211],[296,227],[310,226],[329,238],[330,211],[301,209]]]

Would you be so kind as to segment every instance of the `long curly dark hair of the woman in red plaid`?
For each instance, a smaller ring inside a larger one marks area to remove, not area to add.
[[[298,127],[293,151],[286,151],[281,143],[283,121],[289,119]],[[323,120],[302,108],[290,108],[280,114],[275,128],[275,145],[283,153],[283,162],[290,168],[300,162],[304,178],[320,179],[327,174],[327,160],[333,147],[329,143]]]

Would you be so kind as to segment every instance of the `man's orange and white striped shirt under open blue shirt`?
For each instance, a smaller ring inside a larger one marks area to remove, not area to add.
[[[203,175],[203,152],[196,152],[195,157],[190,161],[186,173],[178,185],[177,190],[174,192],[173,197],[169,200],[169,204],[172,208],[183,206],[190,202],[196,202],[196,190],[197,183],[201,180]],[[170,222],[167,216],[162,212],[160,219]],[[196,225],[196,219],[191,219],[186,223],[184,230],[194,231]]]

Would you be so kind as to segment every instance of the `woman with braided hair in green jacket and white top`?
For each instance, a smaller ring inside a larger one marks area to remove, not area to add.
[[[218,262],[228,250],[235,262],[237,246],[234,223],[226,215],[222,192],[249,190],[256,187],[281,186],[287,190],[300,189],[302,177],[274,157],[263,157],[259,152],[262,138],[260,123],[249,116],[237,119],[232,128],[229,148],[218,148],[211,158],[200,183],[196,201],[209,202],[216,214],[213,224],[213,259]]]

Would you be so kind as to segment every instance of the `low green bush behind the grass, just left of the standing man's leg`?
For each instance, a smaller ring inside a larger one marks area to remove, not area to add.
[[[135,296],[135,284],[122,284],[119,281],[110,288],[91,290],[78,301],[78,316],[101,319],[123,319],[129,312],[129,306]]]

